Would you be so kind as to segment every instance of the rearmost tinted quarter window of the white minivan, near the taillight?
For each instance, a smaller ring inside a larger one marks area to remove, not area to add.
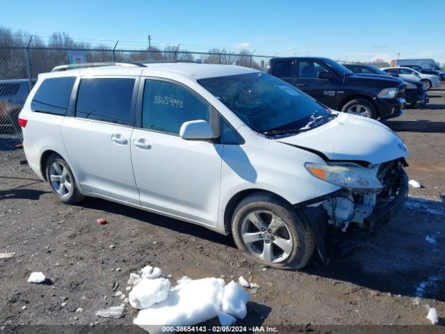
[[[31,109],[41,113],[66,115],[76,77],[44,79],[31,101]]]

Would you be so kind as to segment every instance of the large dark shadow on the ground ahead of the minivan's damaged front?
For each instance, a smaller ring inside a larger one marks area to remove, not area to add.
[[[325,265],[313,257],[302,271],[382,293],[445,301],[444,215],[444,202],[410,197],[375,234],[331,238],[332,261]]]

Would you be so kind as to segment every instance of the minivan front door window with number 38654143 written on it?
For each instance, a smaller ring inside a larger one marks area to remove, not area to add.
[[[183,86],[168,81],[147,80],[144,86],[142,125],[144,129],[179,135],[184,122],[209,122],[209,107],[209,103]]]

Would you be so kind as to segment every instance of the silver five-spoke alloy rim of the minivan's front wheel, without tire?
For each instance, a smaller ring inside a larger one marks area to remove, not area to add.
[[[267,210],[255,210],[246,215],[241,236],[250,253],[266,262],[282,262],[293,249],[292,234],[286,223]]]

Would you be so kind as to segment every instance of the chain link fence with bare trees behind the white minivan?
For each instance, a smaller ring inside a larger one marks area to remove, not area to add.
[[[267,70],[271,56],[258,56],[247,50],[238,52],[195,52],[171,50],[131,50],[114,48],[0,47],[0,135],[21,138],[17,118],[38,74],[51,72],[58,65],[76,61],[149,62],[192,61],[240,65]]]

